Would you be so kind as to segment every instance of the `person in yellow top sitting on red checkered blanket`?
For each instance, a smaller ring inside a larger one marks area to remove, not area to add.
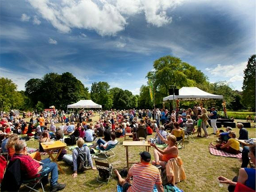
[[[212,142],[210,143],[210,147],[216,148],[227,153],[231,154],[239,154],[239,141],[236,140],[236,133],[234,131],[228,131],[228,135],[230,139],[227,141],[226,144],[218,144],[213,145]]]

